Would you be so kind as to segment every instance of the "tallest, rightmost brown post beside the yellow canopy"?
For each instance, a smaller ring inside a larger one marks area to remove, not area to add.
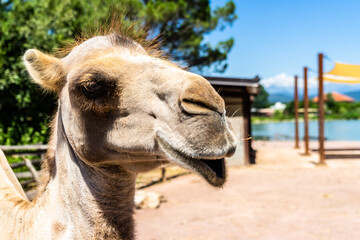
[[[324,78],[323,78],[323,59],[322,53],[318,54],[319,64],[319,101],[318,101],[318,118],[319,118],[319,163],[318,165],[325,165],[325,153],[324,153]]]

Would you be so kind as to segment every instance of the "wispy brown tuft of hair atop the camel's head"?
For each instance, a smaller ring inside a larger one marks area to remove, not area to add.
[[[160,50],[161,34],[150,38],[150,33],[154,32],[154,29],[146,26],[144,22],[141,19],[128,20],[126,14],[112,14],[104,23],[95,23],[93,27],[76,36],[73,41],[57,49],[55,55],[65,57],[86,40],[96,36],[107,36],[114,46],[136,42],[149,56],[169,60],[169,55]]]

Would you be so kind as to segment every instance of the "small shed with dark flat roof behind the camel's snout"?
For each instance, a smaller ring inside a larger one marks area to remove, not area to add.
[[[251,146],[250,110],[259,91],[260,78],[204,77],[225,100],[226,115],[239,139],[236,152],[228,159],[228,163],[232,166],[255,164],[256,152]]]

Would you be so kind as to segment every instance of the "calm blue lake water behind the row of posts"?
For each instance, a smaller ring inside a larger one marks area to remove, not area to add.
[[[310,140],[318,137],[318,122],[309,122]],[[270,140],[292,140],[295,137],[294,122],[253,123],[253,137],[267,137]],[[299,122],[299,138],[304,137],[304,123]],[[331,120],[325,122],[326,140],[360,140],[360,120]]]

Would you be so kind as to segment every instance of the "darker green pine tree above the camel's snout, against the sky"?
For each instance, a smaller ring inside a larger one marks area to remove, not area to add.
[[[236,19],[235,4],[211,10],[209,0],[149,0],[142,13],[147,25],[162,33],[164,48],[175,60],[185,60],[190,67],[201,70],[212,65],[219,72],[225,71],[227,53],[233,38],[216,46],[204,43],[204,36],[215,29],[223,30]]]

